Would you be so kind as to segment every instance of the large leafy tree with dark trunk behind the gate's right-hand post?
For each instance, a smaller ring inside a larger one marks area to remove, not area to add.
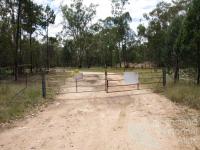
[[[160,2],[144,17],[148,27],[138,26],[138,37],[147,39],[150,58],[158,66],[174,68],[174,81],[179,80],[179,70],[184,65],[184,22],[191,0],[174,0],[172,4]]]

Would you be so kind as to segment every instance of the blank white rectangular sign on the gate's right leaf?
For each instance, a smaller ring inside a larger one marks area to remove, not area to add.
[[[136,72],[124,72],[124,82],[126,84],[138,84],[139,74]]]

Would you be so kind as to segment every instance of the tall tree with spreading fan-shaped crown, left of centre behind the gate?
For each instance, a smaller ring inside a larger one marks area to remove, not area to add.
[[[83,5],[83,0],[73,0],[73,3],[62,7],[65,19],[64,30],[68,37],[75,42],[74,50],[77,52],[78,66],[82,67],[83,56],[85,54],[87,38],[91,21],[96,14],[96,5]],[[87,55],[87,54],[86,54]]]

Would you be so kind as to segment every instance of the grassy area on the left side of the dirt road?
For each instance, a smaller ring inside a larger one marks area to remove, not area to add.
[[[4,81],[0,83],[0,123],[22,118],[43,104],[54,100],[59,87],[65,84],[70,73],[49,73],[46,76],[47,98],[42,98],[41,77],[32,76],[25,82]],[[17,94],[18,93],[18,94]]]

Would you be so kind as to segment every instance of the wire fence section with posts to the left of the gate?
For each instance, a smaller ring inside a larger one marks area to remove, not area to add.
[[[2,101],[17,99],[21,95],[26,94],[30,88],[37,89],[36,92],[39,92],[43,98],[48,97],[48,95],[50,97],[52,92],[59,92],[60,86],[65,84],[65,80],[69,76],[69,72],[26,73],[20,75],[17,81],[7,76],[0,80],[0,99],[3,99]]]

